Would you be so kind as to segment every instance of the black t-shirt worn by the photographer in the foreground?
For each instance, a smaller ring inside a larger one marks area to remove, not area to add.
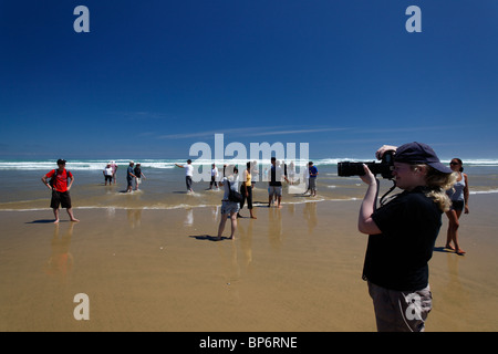
[[[404,191],[372,219],[382,233],[369,236],[363,279],[392,290],[428,284],[428,260],[442,225],[442,211],[422,187]]]

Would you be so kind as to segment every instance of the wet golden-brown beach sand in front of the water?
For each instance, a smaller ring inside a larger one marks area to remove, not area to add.
[[[471,196],[465,257],[443,249],[443,217],[427,332],[498,329],[497,199]],[[236,239],[221,241],[214,207],[75,208],[81,222],[61,210],[59,226],[50,209],[0,211],[0,331],[375,331],[359,208],[257,206],[258,219],[239,219]],[[73,315],[79,293],[90,320]]]

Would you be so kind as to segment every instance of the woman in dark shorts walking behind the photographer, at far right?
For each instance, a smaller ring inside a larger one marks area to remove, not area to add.
[[[468,214],[468,177],[464,174],[463,162],[459,158],[452,159],[449,168],[457,175],[457,179],[453,188],[446,191],[449,199],[452,199],[452,207],[449,211],[446,211],[449,220],[446,248],[454,250],[459,256],[464,256],[466,252],[458,243],[458,228],[460,226],[461,211],[465,210],[464,212]],[[455,248],[452,246],[452,242],[455,244]]]

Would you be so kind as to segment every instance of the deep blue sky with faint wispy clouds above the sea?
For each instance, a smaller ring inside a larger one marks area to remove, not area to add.
[[[187,157],[215,133],[498,157],[496,0],[1,0],[0,48],[0,158]]]

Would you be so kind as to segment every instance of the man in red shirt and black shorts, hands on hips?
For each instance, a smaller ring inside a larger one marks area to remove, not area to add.
[[[80,221],[73,215],[71,196],[69,192],[74,181],[73,174],[65,169],[65,159],[58,159],[58,169],[52,169],[42,177],[43,184],[52,190],[50,207],[53,209],[53,215],[55,216],[54,223],[59,222],[60,205],[68,210],[71,221]],[[48,178],[50,178],[50,183],[48,181]]]

